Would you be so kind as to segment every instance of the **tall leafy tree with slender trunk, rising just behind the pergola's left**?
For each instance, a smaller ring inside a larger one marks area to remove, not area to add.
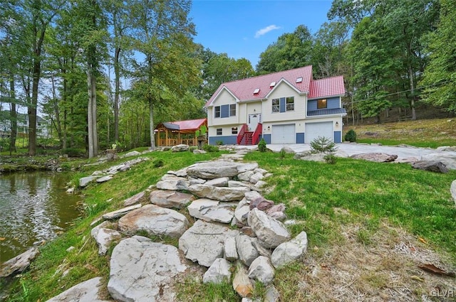
[[[162,106],[170,93],[182,97],[197,81],[199,62],[195,50],[195,26],[188,14],[188,0],[131,0],[131,36],[143,59],[135,64],[135,82],[149,105],[150,148],[155,149],[154,107]]]

